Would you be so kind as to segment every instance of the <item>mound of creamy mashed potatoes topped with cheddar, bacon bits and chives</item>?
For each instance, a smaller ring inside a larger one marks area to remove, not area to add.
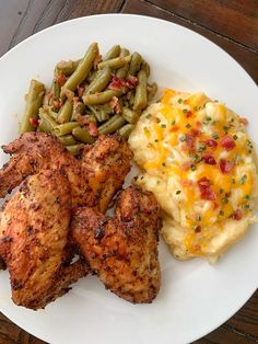
[[[214,262],[257,220],[256,154],[246,124],[201,92],[165,90],[130,135],[143,169],[137,184],[156,196],[176,257]]]

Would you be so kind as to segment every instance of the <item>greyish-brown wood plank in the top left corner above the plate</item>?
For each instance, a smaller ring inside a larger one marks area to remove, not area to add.
[[[22,13],[19,24],[15,25],[15,30],[12,28],[10,35],[5,35],[3,26],[4,34],[0,35],[4,37],[4,45],[0,47],[0,56],[21,41],[52,24],[83,15],[118,12],[122,4],[122,0],[22,0],[21,2],[23,7],[19,7],[20,0],[0,2],[0,13],[2,9],[13,20],[19,15],[16,9],[21,9],[19,12]],[[9,3],[8,8],[5,3]],[[10,26],[13,27],[13,24],[10,23]]]

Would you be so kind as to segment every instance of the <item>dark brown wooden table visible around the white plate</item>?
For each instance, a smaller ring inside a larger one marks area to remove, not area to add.
[[[258,82],[258,0],[0,0],[0,56],[56,23],[112,12],[157,16],[189,27],[230,53]],[[0,344],[10,343],[44,342],[0,313]],[[258,343],[258,293],[196,343]]]

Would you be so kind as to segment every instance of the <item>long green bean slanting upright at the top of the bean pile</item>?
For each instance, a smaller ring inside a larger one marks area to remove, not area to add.
[[[77,69],[68,78],[66,81],[64,85],[62,87],[63,89],[74,91],[75,88],[86,79],[89,71],[91,70],[93,66],[93,61],[95,57],[98,54],[98,46],[97,43],[93,43],[90,45],[87,48],[87,51],[85,56],[81,59],[80,64],[78,65]],[[61,90],[61,95],[64,95],[63,90]]]

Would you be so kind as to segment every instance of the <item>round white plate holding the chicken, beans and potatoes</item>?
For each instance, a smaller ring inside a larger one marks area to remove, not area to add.
[[[181,26],[138,15],[96,15],[64,22],[24,41],[0,59],[0,145],[17,136],[30,80],[50,83],[55,64],[82,56],[92,42],[102,51],[119,43],[150,62],[160,85],[204,90],[258,127],[258,91],[239,65],[218,46]],[[5,161],[0,156],[1,163]],[[232,248],[214,266],[177,262],[160,245],[162,289],[152,305],[131,305],[106,291],[96,277],[80,280],[45,310],[12,303],[8,274],[0,273],[0,310],[50,343],[187,343],[232,317],[258,285],[258,231]]]

